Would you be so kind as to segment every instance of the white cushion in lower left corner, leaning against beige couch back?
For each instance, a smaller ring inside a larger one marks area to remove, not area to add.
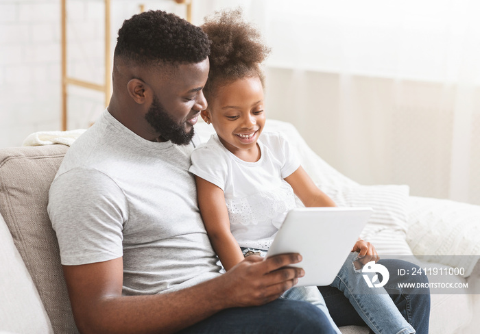
[[[14,333],[53,333],[40,296],[2,216],[0,259],[0,329]]]

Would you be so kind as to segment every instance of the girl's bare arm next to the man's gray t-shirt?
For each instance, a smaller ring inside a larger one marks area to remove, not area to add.
[[[225,203],[224,191],[217,185],[195,175],[198,206],[205,229],[225,270],[243,261],[243,253],[230,232],[230,220]]]

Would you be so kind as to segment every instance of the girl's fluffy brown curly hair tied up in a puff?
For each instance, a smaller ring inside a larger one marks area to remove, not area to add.
[[[210,72],[204,87],[206,98],[217,88],[244,77],[259,77],[261,64],[270,52],[260,32],[242,18],[241,9],[215,12],[205,19],[203,31],[211,40]]]

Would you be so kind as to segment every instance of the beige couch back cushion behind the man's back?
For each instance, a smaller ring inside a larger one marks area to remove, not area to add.
[[[67,149],[64,145],[0,149],[0,214],[55,333],[77,333],[47,214],[50,184]]]

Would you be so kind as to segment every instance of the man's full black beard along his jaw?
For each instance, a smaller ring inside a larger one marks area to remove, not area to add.
[[[193,138],[193,127],[190,132],[185,131],[184,124],[180,125],[171,118],[167,111],[163,108],[154,97],[152,105],[150,105],[145,120],[151,125],[155,131],[160,133],[160,137],[164,140],[170,140],[173,144],[187,145]]]

